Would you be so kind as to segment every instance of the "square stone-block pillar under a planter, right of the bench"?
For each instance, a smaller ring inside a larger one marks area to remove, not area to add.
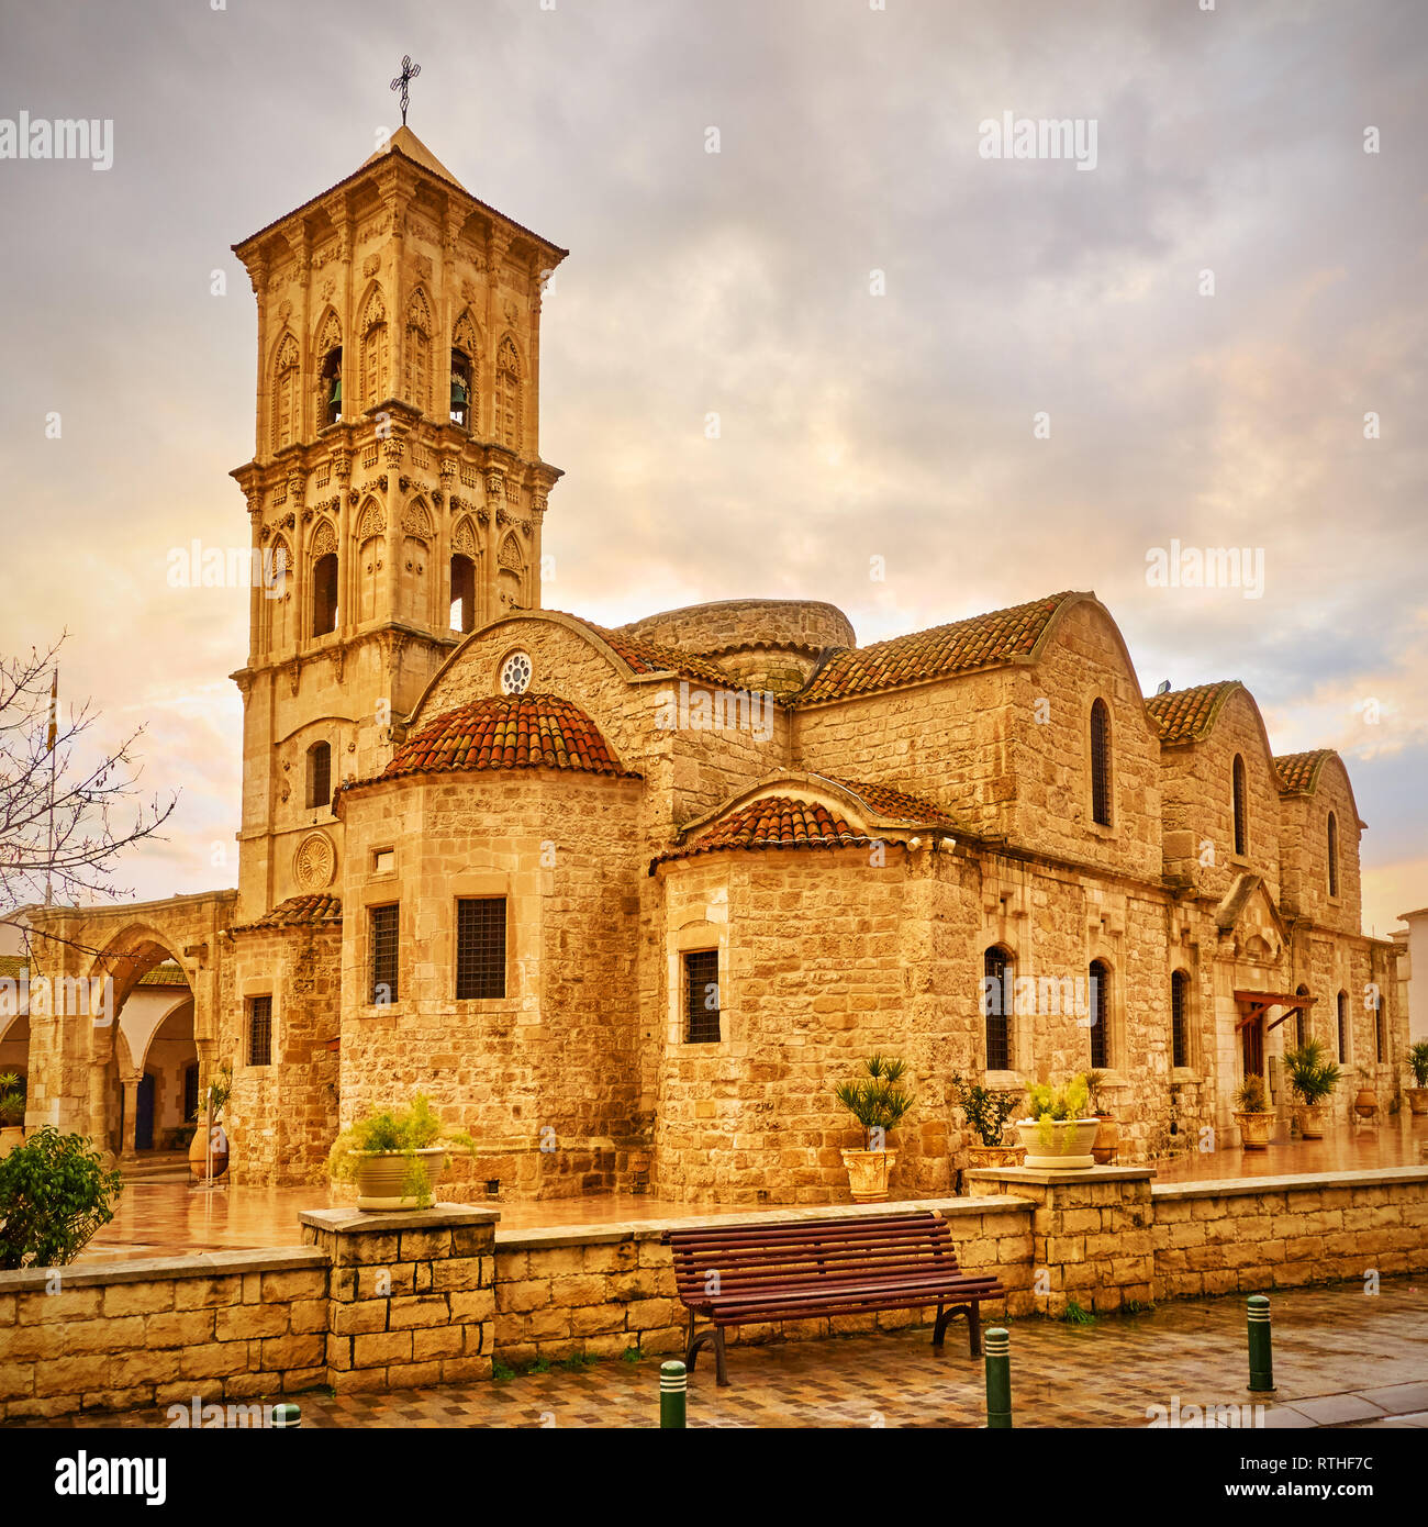
[[[1039,1171],[993,1167],[968,1171],[968,1193],[1029,1199],[1034,1306],[1061,1315],[1152,1304],[1155,1281],[1153,1167]],[[1043,1292],[1045,1290],[1045,1292]]]

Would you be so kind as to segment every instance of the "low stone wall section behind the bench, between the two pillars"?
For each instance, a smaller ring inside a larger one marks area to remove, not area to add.
[[[958,1263],[996,1272],[1014,1310],[1031,1309],[1031,1205],[1022,1199],[927,1199],[910,1203],[713,1214],[678,1220],[632,1220],[600,1228],[496,1232],[496,1358],[619,1356],[683,1351],[687,1312],[675,1293],[674,1263],[660,1235],[670,1226],[758,1225],[826,1220],[889,1209],[935,1209],[951,1226]],[[994,1309],[994,1306],[993,1306]],[[898,1330],[932,1319],[935,1310],[741,1325],[730,1342],[796,1341],[832,1333]]]

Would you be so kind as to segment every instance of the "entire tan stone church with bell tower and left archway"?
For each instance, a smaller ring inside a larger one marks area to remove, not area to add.
[[[35,964],[116,1006],[177,970],[202,1075],[232,1067],[232,1180],[310,1182],[425,1092],[478,1141],[443,1197],[845,1202],[834,1087],[874,1052],[916,1093],[895,1194],[965,1165],[955,1073],[1101,1070],[1132,1161],[1237,1151],[1246,1073],[1287,1119],[1309,1034],[1339,1122],[1359,1070],[1394,1093],[1349,773],[1275,756],[1243,684],[1144,698],[1084,591],[866,646],[817,600],[547,609],[567,250],[403,127],[235,253],[232,475],[273,573],[232,675],[238,887],[31,913]],[[29,1017],[27,1122],[130,1156],[145,1055],[96,1017]]]

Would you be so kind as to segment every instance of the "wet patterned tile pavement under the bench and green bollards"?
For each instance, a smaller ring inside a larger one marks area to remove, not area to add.
[[[1278,1393],[1266,1426],[1428,1429],[1428,1280],[1272,1296]],[[1243,1298],[1178,1301],[1094,1325],[1011,1322],[1019,1426],[1145,1426],[1149,1406],[1245,1405]],[[979,1426],[981,1361],[948,1332],[938,1358],[926,1330],[733,1347],[732,1385],[710,1358],[690,1376],[690,1426]],[[602,1362],[495,1383],[396,1394],[298,1396],[304,1426],[655,1426],[658,1359]],[[162,1411],[86,1416],[86,1426],[162,1426]]]

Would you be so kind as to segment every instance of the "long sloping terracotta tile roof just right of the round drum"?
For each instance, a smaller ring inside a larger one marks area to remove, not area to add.
[[[843,647],[813,676],[796,702],[811,705],[825,699],[843,699],[919,680],[999,667],[1013,658],[1029,657],[1051,617],[1071,597],[1049,594],[1029,605],[1013,605],[987,615],[955,620],[950,626],[913,631],[866,647]]]

